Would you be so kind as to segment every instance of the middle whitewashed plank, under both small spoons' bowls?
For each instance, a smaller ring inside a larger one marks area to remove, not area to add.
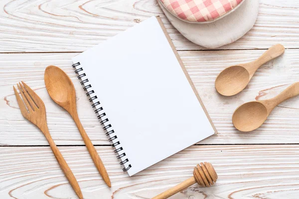
[[[276,107],[267,121],[251,133],[233,127],[232,114],[239,105],[272,98],[299,81],[298,49],[287,49],[277,59],[262,66],[248,87],[233,97],[223,97],[214,88],[216,76],[226,67],[258,58],[264,50],[185,51],[179,55],[199,96],[218,130],[200,144],[298,143],[299,97]],[[38,129],[26,121],[18,109],[12,85],[22,80],[44,101],[50,133],[57,145],[83,145],[71,116],[47,94],[43,74],[55,64],[71,78],[76,89],[79,118],[93,144],[110,144],[91,108],[80,81],[71,67],[77,53],[0,54],[0,145],[47,145]],[[220,59],[221,58],[221,59]]]

